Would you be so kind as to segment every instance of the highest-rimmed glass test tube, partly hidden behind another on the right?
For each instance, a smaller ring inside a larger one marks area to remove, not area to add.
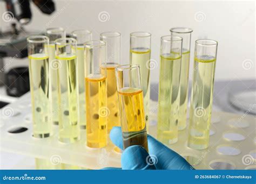
[[[186,27],[174,27],[171,30],[171,36],[183,38],[182,58],[180,72],[180,106],[178,118],[178,130],[186,128],[187,120],[187,93],[188,93],[188,73],[190,68],[190,41],[192,29]]]

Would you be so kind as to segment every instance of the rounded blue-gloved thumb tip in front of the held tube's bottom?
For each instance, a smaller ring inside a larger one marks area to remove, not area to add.
[[[122,154],[121,165],[123,169],[156,169],[150,159],[144,147],[129,146]]]

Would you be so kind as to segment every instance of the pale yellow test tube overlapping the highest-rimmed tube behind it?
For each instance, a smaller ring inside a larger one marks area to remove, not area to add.
[[[178,141],[181,50],[181,37],[161,37],[157,137],[164,144]]]

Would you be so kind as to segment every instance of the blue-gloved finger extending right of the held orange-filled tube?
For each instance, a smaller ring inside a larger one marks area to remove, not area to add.
[[[152,136],[147,136],[150,155],[155,158],[157,169],[194,169],[181,155],[160,143]]]

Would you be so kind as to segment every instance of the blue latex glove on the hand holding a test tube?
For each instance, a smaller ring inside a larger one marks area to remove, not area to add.
[[[114,126],[110,132],[113,144],[123,150],[122,131]],[[149,153],[142,146],[127,147],[121,158],[122,169],[194,169],[178,153],[147,135]],[[117,168],[105,168],[117,169]]]

